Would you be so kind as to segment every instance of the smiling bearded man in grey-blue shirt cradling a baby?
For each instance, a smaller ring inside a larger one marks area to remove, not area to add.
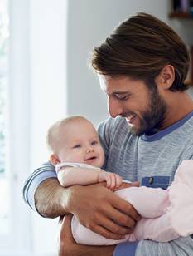
[[[111,116],[99,126],[104,169],[123,180],[166,189],[181,161],[193,158],[193,101],[184,84],[189,67],[185,44],[164,22],[139,13],[94,49],[91,63],[108,96]],[[51,218],[75,214],[81,224],[110,239],[133,230],[139,215],[131,204],[102,185],[63,189],[55,177],[55,170],[46,164],[24,187],[27,203],[36,205],[40,214]],[[91,254],[192,255],[193,240],[83,246],[72,239],[67,217],[61,225],[60,255]]]

